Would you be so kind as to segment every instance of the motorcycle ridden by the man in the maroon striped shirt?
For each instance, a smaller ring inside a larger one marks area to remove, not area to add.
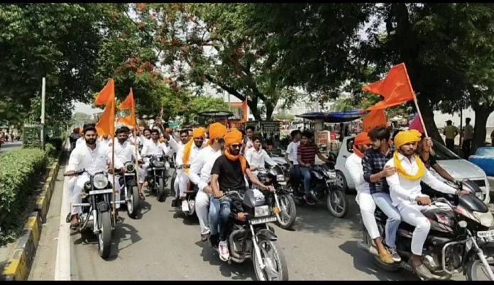
[[[344,189],[336,184],[336,171],[333,164],[314,164],[310,169],[310,188],[316,203],[325,200],[326,208],[336,218],[343,218],[348,212],[348,199]],[[303,182],[300,181],[300,188]],[[300,196],[295,197],[297,203],[306,203]]]

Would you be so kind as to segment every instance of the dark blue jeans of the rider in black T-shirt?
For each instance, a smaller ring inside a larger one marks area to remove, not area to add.
[[[211,230],[211,235],[218,235],[219,240],[225,241],[227,230],[228,230],[228,220],[230,217],[231,199],[225,197],[221,200],[211,197],[209,201],[209,230]]]

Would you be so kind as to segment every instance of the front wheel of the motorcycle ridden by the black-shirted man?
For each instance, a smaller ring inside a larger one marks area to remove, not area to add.
[[[252,252],[251,257],[254,264],[254,272],[256,272],[256,278],[259,281],[287,281],[287,262],[278,242],[259,237],[258,247],[265,267],[264,269],[260,268],[256,252]]]

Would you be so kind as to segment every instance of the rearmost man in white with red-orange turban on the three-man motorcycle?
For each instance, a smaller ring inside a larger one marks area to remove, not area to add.
[[[378,223],[375,222],[374,199],[370,195],[369,184],[363,179],[362,157],[363,153],[370,148],[371,142],[366,132],[356,135],[353,141],[353,153],[346,159],[345,167],[350,173],[350,177],[355,183],[357,196],[355,201],[361,211],[363,225],[366,227],[370,238],[374,240],[378,248],[379,258],[382,262],[391,264],[395,262],[393,256],[385,249],[380,238]]]

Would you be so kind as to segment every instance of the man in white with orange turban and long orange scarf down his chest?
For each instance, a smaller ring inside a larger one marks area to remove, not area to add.
[[[189,172],[190,164],[194,162],[194,158],[197,157],[199,150],[204,147],[204,137],[206,136],[205,128],[195,128],[192,132],[192,140],[189,140],[187,144],[180,148],[177,153],[177,167],[181,167],[182,171],[177,173],[178,186],[180,189],[179,199],[182,200],[182,211],[189,211],[189,203],[185,200],[189,184]],[[175,180],[175,181],[176,181]]]

